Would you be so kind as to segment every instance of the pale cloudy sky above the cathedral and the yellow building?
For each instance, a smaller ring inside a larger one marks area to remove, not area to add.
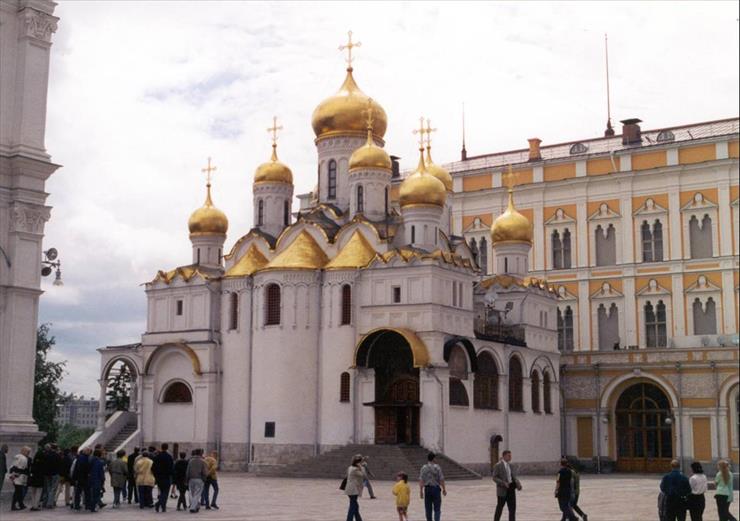
[[[56,14],[46,144],[63,168],[47,183],[45,247],[65,285],[45,281],[40,320],[69,360],[65,390],[85,395],[95,349],[144,330],[141,284],[190,262],[208,156],[227,249],[251,227],[273,115],[296,193],[312,188],[311,113],[343,80],[350,29],[355,77],[388,113],[403,167],[422,114],[439,129],[435,159],[459,157],[463,102],[471,155],[600,135],[604,33],[615,123],[738,115],[737,2],[60,2]]]

